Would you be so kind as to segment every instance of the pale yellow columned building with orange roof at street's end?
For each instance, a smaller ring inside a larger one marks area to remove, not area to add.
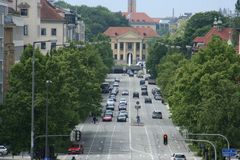
[[[117,64],[133,65],[147,58],[147,42],[158,37],[152,28],[109,27],[105,35],[111,38],[113,58]]]

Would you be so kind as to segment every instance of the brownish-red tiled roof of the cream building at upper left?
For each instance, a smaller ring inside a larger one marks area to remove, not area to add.
[[[41,20],[63,21],[64,17],[58,14],[58,11],[47,0],[41,0]]]

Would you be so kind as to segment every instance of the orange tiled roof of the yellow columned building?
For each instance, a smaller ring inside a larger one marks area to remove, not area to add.
[[[110,37],[117,37],[127,32],[135,32],[141,37],[157,37],[158,34],[152,28],[134,28],[134,27],[109,27],[104,34]]]

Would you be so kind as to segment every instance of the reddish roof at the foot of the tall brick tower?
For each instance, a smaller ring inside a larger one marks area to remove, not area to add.
[[[145,23],[155,23],[155,21],[149,17],[146,13],[143,12],[123,12],[123,16],[125,16],[129,22],[145,22]]]

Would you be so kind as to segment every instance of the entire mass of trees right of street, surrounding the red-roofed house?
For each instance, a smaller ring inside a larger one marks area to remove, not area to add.
[[[238,36],[234,36],[239,34],[238,30],[233,33],[233,45],[215,36],[193,55],[186,49],[196,36],[204,36],[210,30],[215,17],[221,17],[223,26],[239,26],[238,16],[197,13],[182,22],[176,34],[150,42],[146,64],[150,74],[156,77],[177,126],[190,133],[225,135],[230,147],[240,148],[240,57],[235,51]],[[219,137],[194,138],[213,141],[219,156],[221,149],[227,147]],[[194,145],[201,154],[200,144]],[[211,148],[206,144],[205,147]]]

